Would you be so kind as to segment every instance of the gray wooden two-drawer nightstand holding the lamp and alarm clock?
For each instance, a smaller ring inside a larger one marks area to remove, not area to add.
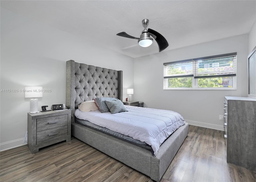
[[[64,140],[71,140],[71,110],[28,113],[28,148],[31,153]]]

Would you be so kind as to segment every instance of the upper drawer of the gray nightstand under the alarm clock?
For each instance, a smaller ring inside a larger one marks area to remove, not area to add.
[[[68,115],[57,115],[52,117],[44,117],[36,120],[36,131],[56,128],[68,125]]]

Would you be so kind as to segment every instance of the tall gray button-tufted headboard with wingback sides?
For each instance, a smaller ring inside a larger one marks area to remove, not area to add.
[[[122,93],[123,71],[76,63],[73,60],[66,62],[66,106],[72,110],[72,116],[84,101],[96,97],[122,100]]]

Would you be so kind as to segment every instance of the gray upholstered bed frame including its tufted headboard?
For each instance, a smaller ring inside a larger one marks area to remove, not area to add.
[[[122,100],[122,71],[94,67],[73,60],[66,62],[66,106],[72,111],[71,134],[127,166],[159,182],[188,135],[188,124],[177,129],[160,146],[155,157],[151,151],[116,139],[75,122],[78,105],[96,97]]]

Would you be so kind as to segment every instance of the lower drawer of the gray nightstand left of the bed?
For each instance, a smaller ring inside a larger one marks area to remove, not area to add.
[[[36,134],[36,144],[46,141],[58,139],[68,135],[68,126],[61,126],[43,131],[38,131]]]

